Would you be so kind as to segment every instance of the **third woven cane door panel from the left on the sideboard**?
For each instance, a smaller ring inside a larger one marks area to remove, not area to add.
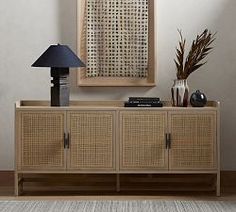
[[[121,112],[120,122],[121,169],[167,168],[166,113]]]

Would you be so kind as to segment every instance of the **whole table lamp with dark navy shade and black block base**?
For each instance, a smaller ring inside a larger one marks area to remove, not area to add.
[[[69,68],[85,67],[85,64],[66,45],[51,45],[32,67],[51,68],[51,106],[69,106]]]

